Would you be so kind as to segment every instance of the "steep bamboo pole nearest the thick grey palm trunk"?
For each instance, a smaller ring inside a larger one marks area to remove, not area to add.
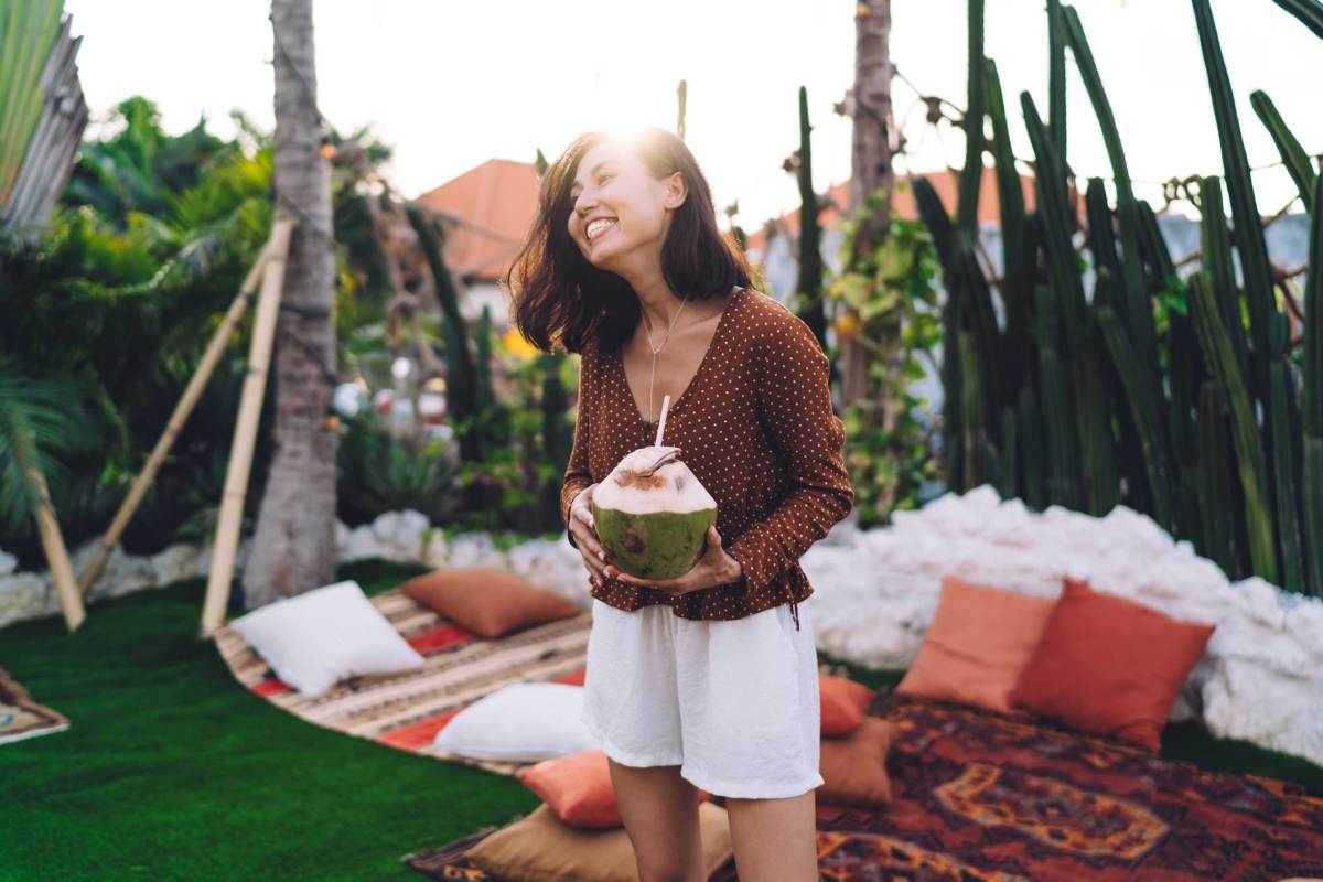
[[[206,579],[206,599],[202,604],[200,636],[209,639],[225,618],[225,602],[234,575],[234,554],[239,543],[239,525],[243,520],[243,496],[247,491],[249,469],[253,465],[253,447],[257,442],[258,418],[262,415],[262,397],[266,393],[266,374],[271,361],[271,341],[284,288],[284,264],[290,251],[290,231],[294,218],[277,217],[262,271],[262,294],[253,320],[253,339],[249,345],[247,376],[239,398],[239,414],[234,423],[234,442],[230,446],[230,464],[225,472],[225,492],[212,546],[212,570]]]

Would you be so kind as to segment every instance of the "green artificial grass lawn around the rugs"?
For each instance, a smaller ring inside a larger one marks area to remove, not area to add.
[[[423,571],[357,562],[368,594]],[[0,629],[0,666],[67,731],[0,746],[0,879],[421,879],[400,863],[537,807],[515,778],[307,723],[251,694],[197,639],[204,581]],[[902,672],[845,664],[880,688]],[[1323,789],[1323,768],[1195,723],[1163,755]]]

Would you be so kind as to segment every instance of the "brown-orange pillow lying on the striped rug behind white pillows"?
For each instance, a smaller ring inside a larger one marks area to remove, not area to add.
[[[582,612],[573,603],[504,570],[437,570],[400,588],[480,637],[500,637]]]

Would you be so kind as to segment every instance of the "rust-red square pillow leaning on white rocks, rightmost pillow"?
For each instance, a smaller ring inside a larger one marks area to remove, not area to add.
[[[1176,694],[1216,627],[1066,579],[1011,701],[1158,751]]]

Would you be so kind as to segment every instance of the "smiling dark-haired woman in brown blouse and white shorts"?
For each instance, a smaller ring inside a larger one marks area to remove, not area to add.
[[[849,513],[844,426],[808,327],[749,287],[684,143],[589,132],[542,176],[507,275],[533,345],[579,353],[561,495],[593,596],[583,723],[642,879],[706,878],[699,789],[726,799],[740,878],[818,878],[818,657],[799,557]],[[598,541],[593,492],[665,446],[717,501],[693,569],[643,582]]]

